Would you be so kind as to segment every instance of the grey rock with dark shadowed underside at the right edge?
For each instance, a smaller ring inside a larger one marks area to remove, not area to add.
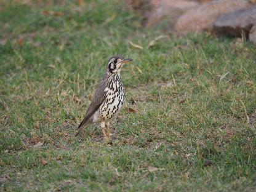
[[[253,25],[256,25],[256,6],[233,10],[220,16],[214,22],[214,31],[233,36],[245,33],[246,38],[249,38],[249,31]]]

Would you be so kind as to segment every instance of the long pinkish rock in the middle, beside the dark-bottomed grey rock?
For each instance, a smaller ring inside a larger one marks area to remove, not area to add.
[[[218,0],[210,1],[199,7],[188,10],[174,25],[174,30],[179,34],[187,32],[196,32],[200,30],[209,30],[212,23],[220,15],[234,9],[244,9],[251,6],[246,0]]]

